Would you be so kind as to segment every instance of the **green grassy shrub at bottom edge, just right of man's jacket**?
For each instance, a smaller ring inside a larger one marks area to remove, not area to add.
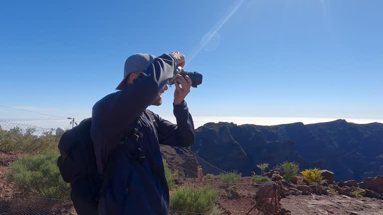
[[[210,186],[202,188],[180,187],[170,197],[170,210],[184,211],[189,213],[218,213],[214,201],[217,198],[217,191]]]

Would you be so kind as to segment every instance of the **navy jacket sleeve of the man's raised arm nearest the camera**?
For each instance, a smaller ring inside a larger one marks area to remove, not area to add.
[[[170,54],[157,57],[132,84],[98,101],[92,110],[91,135],[102,131],[106,139],[120,139],[126,124],[137,119],[173,77],[176,64]]]

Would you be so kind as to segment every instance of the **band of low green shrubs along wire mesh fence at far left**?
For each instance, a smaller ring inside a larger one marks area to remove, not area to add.
[[[57,150],[61,135],[44,132],[41,136],[34,133],[36,128],[26,128],[25,132],[19,127],[3,130],[0,127],[0,151],[22,151],[25,153],[42,154]]]

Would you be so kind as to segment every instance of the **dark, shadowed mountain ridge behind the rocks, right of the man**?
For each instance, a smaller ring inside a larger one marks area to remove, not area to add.
[[[383,123],[330,122],[281,125],[237,125],[208,122],[195,130],[191,147],[219,168],[244,175],[256,164],[295,161],[301,169],[319,167],[336,173],[336,180],[362,180],[383,174]]]

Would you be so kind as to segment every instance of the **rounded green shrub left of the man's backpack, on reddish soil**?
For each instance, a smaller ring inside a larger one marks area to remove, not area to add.
[[[65,183],[56,166],[57,152],[32,155],[12,162],[8,180],[18,189],[44,198],[70,199],[70,185]]]

